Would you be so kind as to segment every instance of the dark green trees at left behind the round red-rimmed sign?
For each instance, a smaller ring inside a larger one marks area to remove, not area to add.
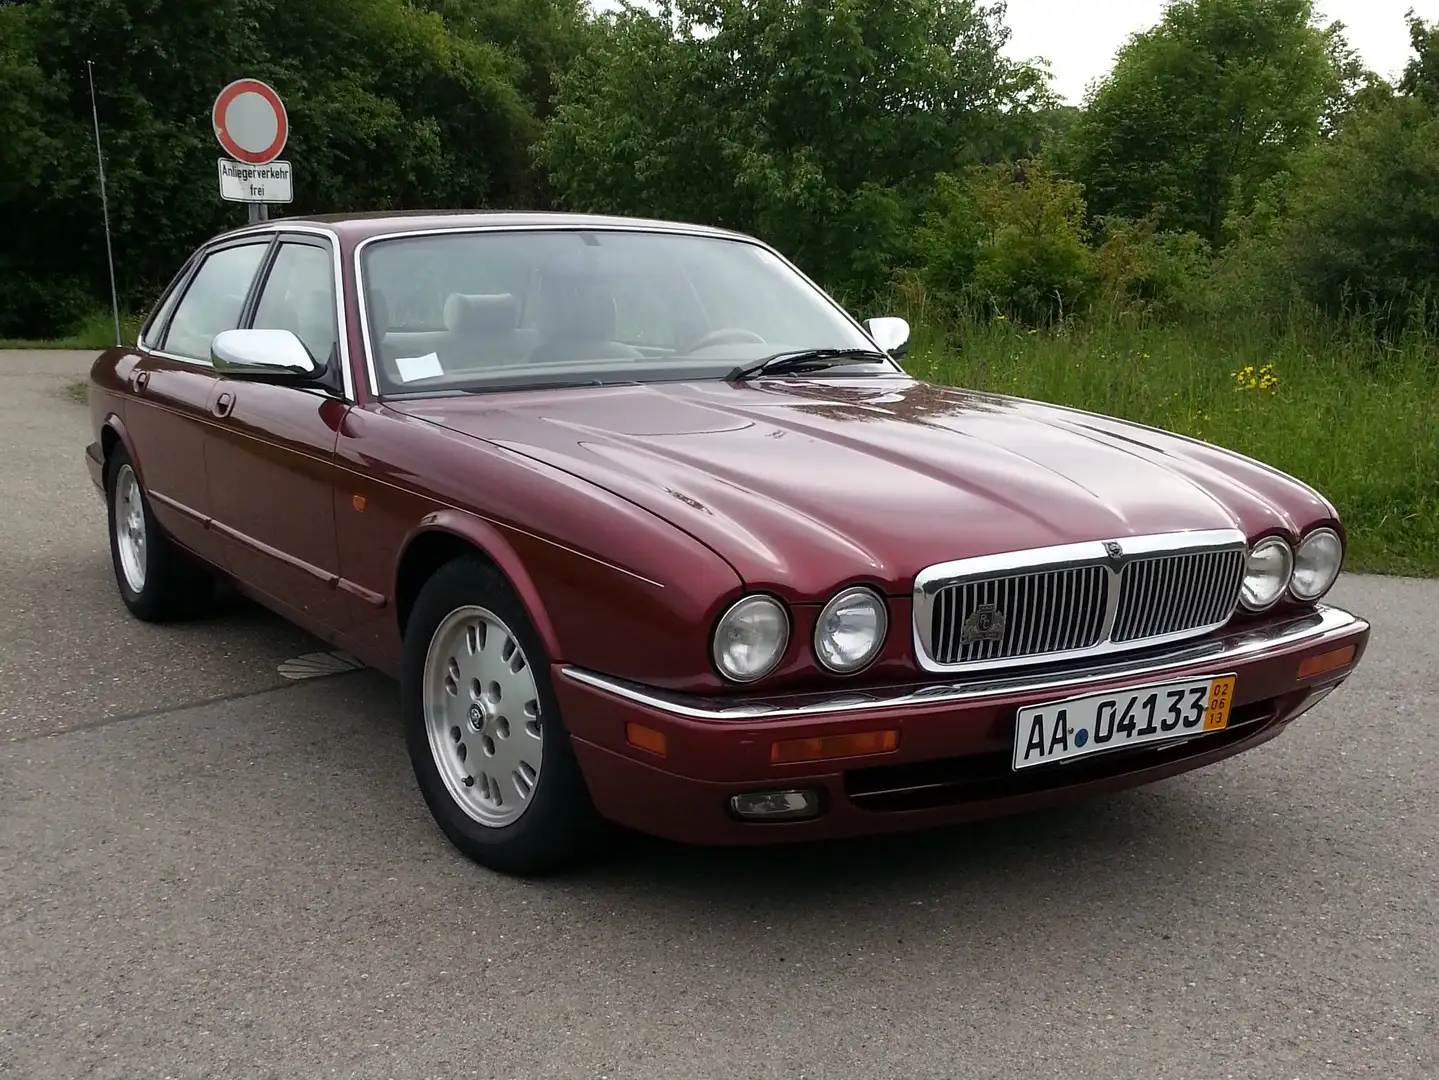
[[[508,17],[517,1],[492,7]],[[63,332],[108,293],[86,59],[128,306],[243,221],[219,198],[210,131],[214,95],[240,76],[286,102],[288,213],[543,201],[525,89],[543,50],[521,56],[409,0],[0,3],[0,335]]]

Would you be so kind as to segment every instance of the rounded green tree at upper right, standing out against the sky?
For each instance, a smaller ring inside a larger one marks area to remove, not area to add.
[[[1069,148],[1089,207],[1222,239],[1348,106],[1360,70],[1312,0],[1176,0],[1120,53]]]

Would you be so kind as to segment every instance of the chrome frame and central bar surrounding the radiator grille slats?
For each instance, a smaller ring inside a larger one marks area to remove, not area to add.
[[[1105,544],[1118,544],[1124,554],[1112,558],[1105,551]],[[1111,656],[1114,653],[1131,653],[1137,649],[1154,649],[1156,646],[1187,641],[1194,637],[1219,630],[1233,618],[1239,607],[1239,590],[1235,592],[1235,603],[1225,613],[1225,617],[1209,626],[1183,630],[1160,637],[1144,637],[1135,641],[1112,641],[1115,618],[1120,611],[1120,581],[1124,567],[1135,559],[1153,555],[1181,555],[1189,552],[1210,551],[1248,551],[1245,534],[1239,529],[1203,529],[1193,532],[1163,532],[1148,536],[1115,536],[1112,541],[1089,541],[1085,544],[1063,544],[1052,548],[1030,548],[1027,551],[1006,551],[994,555],[979,555],[954,562],[940,562],[921,569],[914,580],[914,613],[911,630],[914,637],[914,651],[920,667],[935,674],[958,674],[966,672],[1000,672],[1013,667],[1033,667],[1036,664],[1065,663],[1068,660],[1084,660],[1089,657]],[[960,664],[941,664],[934,660],[930,649],[932,633],[934,598],[940,590],[948,585],[963,584],[973,580],[991,578],[1002,574],[1046,572],[1061,569],[1075,569],[1081,567],[1104,567],[1109,574],[1109,595],[1104,613],[1104,623],[1099,644],[1092,649],[1073,649],[1062,653],[1038,653],[1016,656],[1006,660],[977,660]]]

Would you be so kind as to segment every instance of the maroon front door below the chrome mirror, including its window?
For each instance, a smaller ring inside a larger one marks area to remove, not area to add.
[[[330,239],[282,233],[262,275],[245,325],[291,331],[325,370],[307,384],[219,378],[206,450],[210,511],[236,578],[302,620],[345,630],[334,459],[351,403]]]

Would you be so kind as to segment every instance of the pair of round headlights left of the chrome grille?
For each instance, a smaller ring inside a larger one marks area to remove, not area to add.
[[[884,597],[871,588],[846,588],[819,613],[814,659],[835,674],[855,674],[879,656],[888,630]],[[778,666],[789,644],[790,617],[784,605],[774,597],[745,597],[715,627],[715,667],[725,679],[753,683]]]

